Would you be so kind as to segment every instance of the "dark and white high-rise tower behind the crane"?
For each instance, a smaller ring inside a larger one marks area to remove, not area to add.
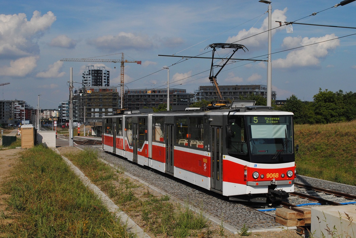
[[[110,71],[104,66],[94,69],[94,65],[85,65],[85,71],[82,75],[82,85],[87,86],[110,86]]]

